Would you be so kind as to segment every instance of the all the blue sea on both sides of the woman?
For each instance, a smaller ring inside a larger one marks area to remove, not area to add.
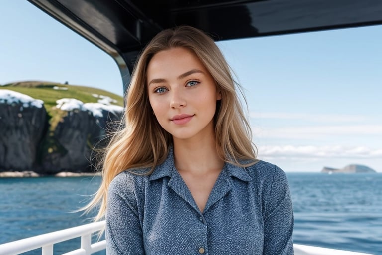
[[[382,255],[381,173],[286,175],[295,244]],[[76,210],[99,183],[98,176],[0,178],[0,244],[90,223],[94,215]],[[55,245],[54,254],[79,247],[76,238]],[[39,254],[41,249],[23,253]]]

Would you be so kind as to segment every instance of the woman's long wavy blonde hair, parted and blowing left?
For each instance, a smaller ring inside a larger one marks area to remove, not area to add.
[[[102,182],[93,200],[84,208],[99,206],[95,220],[106,211],[107,190],[112,179],[126,169],[151,168],[154,171],[167,157],[172,136],[153,116],[147,92],[146,72],[158,52],[183,47],[200,59],[221,92],[214,117],[216,149],[219,157],[238,166],[256,162],[252,132],[238,97],[241,88],[232,78],[230,68],[215,42],[202,31],[180,26],[158,33],[145,47],[135,64],[126,94],[126,109],[118,130],[105,149]],[[245,160],[245,161],[243,161]]]

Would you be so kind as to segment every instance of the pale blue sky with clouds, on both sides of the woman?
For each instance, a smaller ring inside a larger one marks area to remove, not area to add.
[[[25,0],[0,3],[0,84],[68,81],[122,95],[114,60]],[[382,26],[219,42],[259,158],[286,172],[382,172]]]

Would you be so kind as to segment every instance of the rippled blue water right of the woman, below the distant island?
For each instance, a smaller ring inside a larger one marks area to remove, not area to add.
[[[382,174],[287,174],[294,243],[382,254]]]

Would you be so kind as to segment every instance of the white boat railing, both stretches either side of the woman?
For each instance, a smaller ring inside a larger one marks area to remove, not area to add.
[[[25,238],[18,241],[0,245],[0,255],[17,255],[20,253],[42,248],[42,255],[53,255],[53,245],[81,237],[81,248],[63,255],[91,255],[106,249],[106,240],[92,244],[92,234],[104,228],[105,221],[89,223],[86,225],[64,229],[35,237]],[[328,249],[315,246],[294,244],[294,255],[371,255]]]

